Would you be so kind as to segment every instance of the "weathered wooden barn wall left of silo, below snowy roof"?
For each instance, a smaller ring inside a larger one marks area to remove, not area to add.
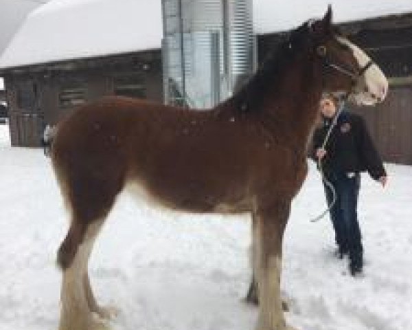
[[[145,97],[163,102],[160,51],[45,65],[5,74],[12,145],[39,146],[45,125],[56,124],[76,109],[76,106],[62,106],[60,102],[60,94],[67,84],[75,82],[84,86],[84,102],[90,102],[115,95],[116,78],[136,75],[141,76]],[[23,106],[19,99],[22,91],[27,96]]]

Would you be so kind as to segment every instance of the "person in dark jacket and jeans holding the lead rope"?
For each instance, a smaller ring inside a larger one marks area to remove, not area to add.
[[[361,184],[360,173],[369,175],[382,184],[387,184],[387,173],[371,140],[365,121],[360,115],[344,111],[336,118],[328,142],[323,146],[330,125],[337,115],[339,99],[331,94],[321,98],[321,125],[312,138],[312,158],[318,162],[323,177],[336,191],[336,201],[330,208],[330,219],[335,232],[338,255],[343,259],[349,255],[352,276],[363,271],[363,245],[358,223],[358,195]],[[325,197],[330,206],[334,195],[323,180]]]

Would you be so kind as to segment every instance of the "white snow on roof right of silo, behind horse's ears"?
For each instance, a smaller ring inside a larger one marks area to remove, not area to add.
[[[253,0],[255,32],[290,30],[310,18],[323,17],[329,3],[335,23],[412,12],[411,0]]]

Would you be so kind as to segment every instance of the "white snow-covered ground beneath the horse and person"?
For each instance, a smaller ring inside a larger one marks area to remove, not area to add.
[[[11,148],[0,127],[0,330],[57,329],[55,252],[67,214],[49,159]],[[323,191],[313,166],[293,203],[282,289],[300,330],[412,329],[412,167],[387,164],[383,190],[367,176],[360,218],[365,276],[333,256]],[[122,196],[98,239],[91,278],[100,302],[117,305],[114,330],[251,330],[248,217],[152,210]]]

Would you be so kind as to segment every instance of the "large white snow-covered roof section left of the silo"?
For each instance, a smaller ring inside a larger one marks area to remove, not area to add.
[[[160,0],[53,0],[34,10],[0,68],[161,47]]]

